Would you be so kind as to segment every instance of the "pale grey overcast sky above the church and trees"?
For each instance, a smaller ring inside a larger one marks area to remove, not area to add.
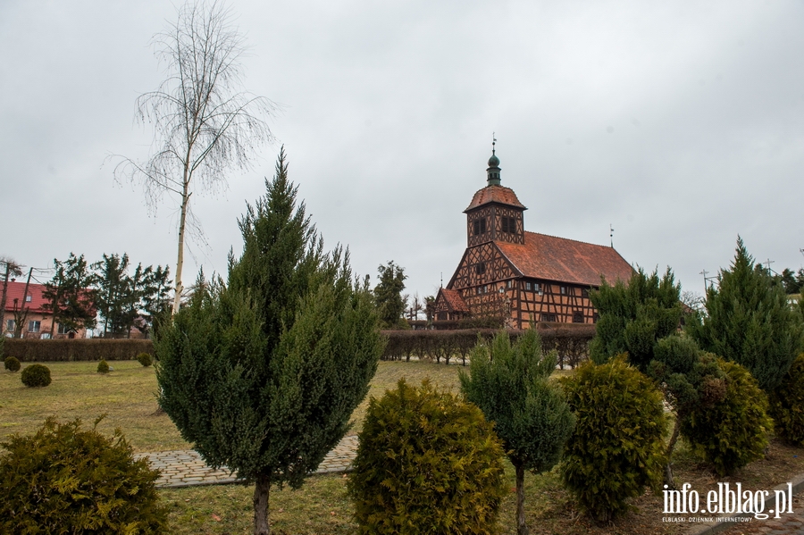
[[[225,272],[237,219],[279,146],[325,245],[355,272],[446,284],[491,135],[525,229],[609,243],[703,292],[736,238],[776,271],[804,264],[804,2],[230,2],[246,88],[281,104],[253,171],[193,197]],[[0,255],[176,263],[176,204],[149,213],[110,154],[147,155],[135,98],[164,77],[167,0],[0,1]],[[46,273],[39,275],[43,281]]]

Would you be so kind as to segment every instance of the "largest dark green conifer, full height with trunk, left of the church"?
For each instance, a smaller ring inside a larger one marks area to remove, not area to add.
[[[155,344],[159,404],[207,464],[255,485],[259,535],[271,485],[300,487],[335,447],[382,350],[368,288],[348,253],[322,252],[287,172],[282,150],[228,281],[198,284]]]

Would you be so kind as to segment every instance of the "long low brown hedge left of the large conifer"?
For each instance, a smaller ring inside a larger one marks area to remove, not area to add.
[[[133,360],[140,353],[154,355],[154,344],[143,339],[5,339],[5,356],[20,362]]]

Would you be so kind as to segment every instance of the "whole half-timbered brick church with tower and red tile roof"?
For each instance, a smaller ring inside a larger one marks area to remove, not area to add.
[[[531,322],[594,323],[589,299],[601,276],[629,280],[633,269],[614,247],[524,230],[525,206],[500,185],[492,148],[488,185],[465,209],[468,243],[455,274],[440,288],[435,320],[498,317],[508,328]]]

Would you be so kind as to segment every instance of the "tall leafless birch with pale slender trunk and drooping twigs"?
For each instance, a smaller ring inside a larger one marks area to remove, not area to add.
[[[243,90],[244,38],[219,2],[184,4],[153,45],[167,77],[155,91],[138,97],[136,115],[138,122],[154,127],[151,153],[144,162],[123,157],[114,177],[141,183],[152,209],[165,194],[179,203],[175,313],[188,224],[201,232],[193,224],[190,197],[225,189],[226,171],[251,167],[256,148],[272,141],[264,118],[276,106]]]

